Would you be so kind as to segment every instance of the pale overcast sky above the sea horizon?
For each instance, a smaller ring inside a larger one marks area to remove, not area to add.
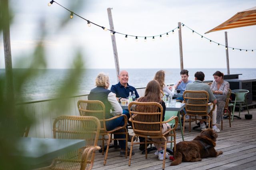
[[[21,57],[30,55],[40,39],[40,21],[45,21],[47,68],[70,68],[77,49],[82,49],[86,68],[115,68],[109,31],[74,16],[60,29],[70,12],[50,0],[11,0],[14,20],[10,27],[12,63],[17,68]],[[225,44],[223,31],[204,34],[239,11],[256,6],[255,0],[91,0],[74,8],[77,0],[56,0],[98,25],[109,28],[107,8],[112,9],[114,29],[135,36],[153,36],[171,31],[182,22],[205,37]],[[256,25],[228,29],[228,46],[256,49]],[[120,68],[180,68],[178,30],[162,40],[134,37],[124,40],[115,34]],[[225,47],[209,43],[186,27],[182,28],[184,68],[226,68]],[[230,68],[256,68],[256,51],[229,49]],[[28,62],[29,63],[29,62]],[[28,66],[28,64],[23,67]],[[0,35],[0,68],[4,68],[4,47]]]

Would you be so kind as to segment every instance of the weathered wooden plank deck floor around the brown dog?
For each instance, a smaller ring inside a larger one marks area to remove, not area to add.
[[[249,110],[253,114],[251,120],[244,119],[244,114],[247,110],[241,112],[242,119],[239,120],[234,118],[231,123],[231,128],[229,127],[228,119],[223,121],[223,130],[218,133],[218,138],[216,142],[216,150],[222,150],[223,154],[216,158],[204,158],[200,162],[182,162],[177,166],[170,166],[169,159],[166,159],[165,169],[172,170],[188,170],[188,169],[216,169],[216,170],[226,170],[226,169],[236,169],[236,170],[256,170],[256,109]],[[238,112],[235,112],[238,115]],[[188,127],[188,125],[186,125]],[[220,125],[218,125],[220,129]],[[129,129],[130,131],[130,129]],[[180,130],[177,133],[177,143],[180,142],[181,135]],[[184,139],[185,141],[191,141],[200,133],[200,130],[191,130],[188,132],[188,128],[185,129]],[[130,143],[128,143],[130,147]],[[97,152],[96,158],[94,160],[93,168],[95,170],[158,170],[162,169],[162,161],[154,155],[154,151],[148,153],[148,158],[145,158],[144,154],[138,149],[139,145],[135,145],[134,152],[135,155],[132,156],[131,166],[128,166],[129,157],[121,158],[119,157],[118,149],[109,149],[107,163],[103,165],[104,156]],[[168,146],[170,147],[170,145]]]

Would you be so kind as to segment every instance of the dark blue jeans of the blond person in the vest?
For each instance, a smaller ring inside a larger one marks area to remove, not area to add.
[[[116,127],[123,126],[124,125],[124,117],[118,117],[117,119],[106,121],[106,129],[107,131],[110,131],[112,129],[115,129]],[[116,138],[125,138],[125,135],[114,135],[114,139]],[[125,140],[118,140],[119,146],[121,149],[125,149],[126,143]]]

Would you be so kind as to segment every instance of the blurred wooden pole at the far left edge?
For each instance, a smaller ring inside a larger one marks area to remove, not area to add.
[[[5,62],[5,75],[8,98],[14,98],[13,80],[12,80],[12,53],[10,43],[10,21],[9,21],[9,6],[8,0],[2,0],[0,11],[1,22],[3,22],[3,40],[4,40],[4,62]]]

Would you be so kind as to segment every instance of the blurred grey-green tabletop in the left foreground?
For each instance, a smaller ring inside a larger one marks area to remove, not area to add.
[[[19,152],[12,153],[29,167],[52,160],[67,152],[84,147],[85,140],[80,139],[46,139],[36,137],[21,137],[16,146]]]

